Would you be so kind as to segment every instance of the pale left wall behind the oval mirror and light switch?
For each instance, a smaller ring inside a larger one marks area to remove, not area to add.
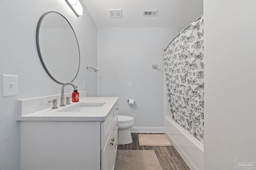
[[[18,75],[18,96],[2,97],[0,90],[0,170],[20,168],[20,123],[15,121],[17,100],[60,94],[61,84],[48,76],[36,49],[37,23],[48,11],[60,12],[70,21],[81,56],[74,83],[82,90],[82,81],[86,80],[84,90],[88,96],[97,95],[97,74],[86,69],[86,65],[97,67],[97,29],[85,7],[84,15],[78,18],[65,0],[1,0],[0,80],[2,84],[2,74]],[[67,87],[65,92],[72,92],[72,88]]]

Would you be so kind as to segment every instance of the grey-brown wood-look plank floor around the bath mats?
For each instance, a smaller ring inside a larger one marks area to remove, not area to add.
[[[120,150],[154,150],[163,170],[190,170],[178,151],[172,147],[139,146],[138,134],[162,133],[131,133],[133,142],[127,145],[118,145]]]

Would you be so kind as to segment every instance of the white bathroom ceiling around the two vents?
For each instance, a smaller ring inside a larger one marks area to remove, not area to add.
[[[186,27],[203,14],[203,0],[82,0],[97,27]],[[122,10],[110,18],[108,10]],[[143,16],[158,10],[157,16]]]

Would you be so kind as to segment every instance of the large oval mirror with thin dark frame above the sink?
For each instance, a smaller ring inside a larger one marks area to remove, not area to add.
[[[72,82],[79,70],[80,51],[76,34],[60,13],[46,12],[36,29],[36,46],[41,63],[57,83]]]

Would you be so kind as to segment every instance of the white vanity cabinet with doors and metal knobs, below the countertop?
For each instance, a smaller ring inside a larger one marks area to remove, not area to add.
[[[114,170],[117,118],[115,102],[104,121],[22,120],[20,170]]]

